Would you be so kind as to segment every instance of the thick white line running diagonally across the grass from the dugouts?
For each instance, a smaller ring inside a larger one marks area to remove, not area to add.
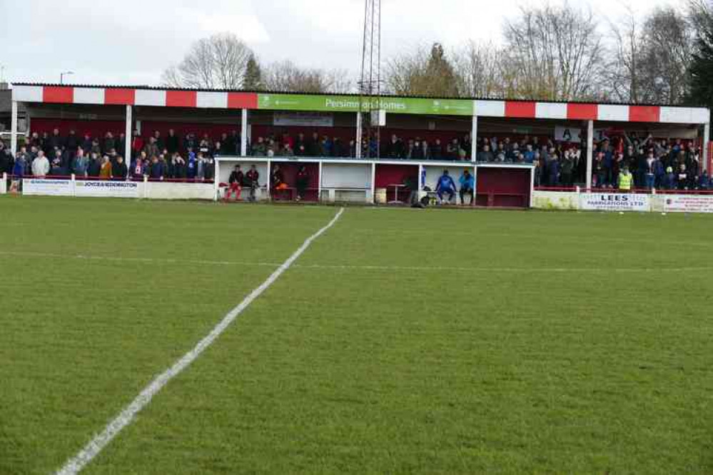
[[[206,337],[203,337],[198,344],[196,344],[191,351],[188,353],[184,354],[181,359],[178,359],[177,362],[173,363],[173,366],[170,368],[166,369],[163,373],[158,375],[156,379],[153,379],[151,383],[148,384],[143,390],[136,396],[135,399],[129,404],[127,407],[121,411],[118,416],[116,416],[109,424],[104,428],[103,431],[101,431],[100,434],[94,436],[91,441],[89,441],[86,446],[84,446],[84,449],[81,449],[76,456],[72,457],[67,461],[64,466],[59,469],[59,471],[56,472],[57,475],[71,475],[71,474],[77,474],[81,469],[86,466],[86,464],[89,464],[89,462],[96,457],[99,452],[109,443],[111,442],[111,439],[113,439],[116,434],[118,434],[121,429],[124,427],[128,426],[128,424],[131,424],[131,421],[133,420],[134,417],[136,417],[136,414],[141,411],[146,405],[151,402],[151,399],[161,391],[161,388],[166,386],[166,384],[173,379],[173,377],[176,377],[178,374],[180,374],[183,369],[186,369],[191,363],[193,363],[196,358],[198,358],[203,351],[205,351],[206,348],[210,347],[211,344],[213,344],[214,341],[216,341],[216,338],[221,336],[221,333],[223,333],[226,328],[228,328],[231,323],[233,323],[234,320],[236,320],[236,317],[240,315],[243,310],[245,310],[256,298],[258,298],[263,292],[265,292],[270,285],[273,285],[273,282],[275,280],[278,280],[278,277],[285,272],[285,270],[288,270],[290,266],[295,262],[295,260],[302,255],[305,250],[307,250],[308,247],[312,244],[312,242],[320,237],[326,230],[331,228],[334,223],[337,222],[339,217],[344,213],[344,208],[340,208],[339,212],[335,215],[332,220],[325,225],[324,228],[318,230],[316,233],[308,237],[305,242],[302,243],[302,245],[296,250],[293,255],[290,255],[285,262],[278,267],[275,272],[270,274],[270,277],[267,278],[265,282],[263,282],[260,287],[257,287],[253,292],[251,292],[245,299],[243,299],[240,304],[235,307],[233,310],[228,312],[228,314],[223,317],[223,320],[221,320],[218,325],[216,325],[213,330],[211,330]]]

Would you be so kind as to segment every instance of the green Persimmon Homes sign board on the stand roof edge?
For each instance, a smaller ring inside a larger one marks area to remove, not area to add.
[[[363,98],[366,108],[369,98]],[[386,113],[472,116],[473,101],[468,99],[372,98],[373,107]],[[297,94],[258,94],[258,109],[273,111],[356,112],[358,96],[300,96]]]

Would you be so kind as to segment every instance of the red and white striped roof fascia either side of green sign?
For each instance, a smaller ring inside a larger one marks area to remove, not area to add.
[[[173,91],[79,86],[13,86],[14,101],[158,107],[256,109],[258,95],[243,92]],[[702,107],[629,106],[597,103],[496,101],[477,99],[479,117],[557,119],[607,122],[704,124],[710,111]]]

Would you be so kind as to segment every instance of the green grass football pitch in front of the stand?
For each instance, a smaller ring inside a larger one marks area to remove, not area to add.
[[[0,474],[337,208],[0,197]],[[713,219],[348,208],[86,474],[711,474]]]

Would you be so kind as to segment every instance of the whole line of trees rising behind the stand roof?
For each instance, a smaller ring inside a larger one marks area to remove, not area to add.
[[[523,6],[500,42],[422,45],[386,58],[383,91],[404,96],[713,103],[713,1],[616,21],[566,2]],[[231,33],[197,41],[166,86],[345,93],[357,79],[292,61],[263,64]]]

